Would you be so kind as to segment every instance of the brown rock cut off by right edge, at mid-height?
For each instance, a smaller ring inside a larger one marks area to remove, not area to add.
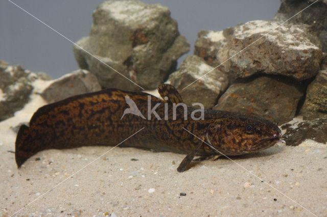
[[[325,114],[327,114],[327,67],[319,71],[308,86],[306,100],[300,111],[304,120],[312,120]]]

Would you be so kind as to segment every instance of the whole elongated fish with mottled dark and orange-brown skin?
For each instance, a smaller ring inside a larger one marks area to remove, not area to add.
[[[125,114],[121,119],[125,109],[129,108],[126,95],[147,118],[149,94],[118,89],[73,96],[40,107],[31,118],[30,127],[22,125],[18,131],[15,144],[17,166],[20,167],[29,157],[45,149],[114,146],[143,127],[120,146],[194,152],[201,156],[220,154],[203,145],[185,128],[212,144],[222,154],[240,155],[271,147],[281,135],[281,130],[268,120],[226,111],[204,110],[204,120],[192,120],[191,113],[198,108],[188,107],[188,119],[184,120],[183,107],[178,106],[176,120],[173,120],[173,102],[180,102],[181,97],[170,85],[161,85],[158,90],[163,98],[169,97],[166,103],[169,108],[168,120],[164,119],[165,101],[152,95],[151,108],[160,103],[155,111],[162,120],[153,114],[151,120],[133,114]],[[196,114],[200,115],[199,112]]]

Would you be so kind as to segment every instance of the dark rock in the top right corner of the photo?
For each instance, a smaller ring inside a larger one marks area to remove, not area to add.
[[[294,14],[308,7],[313,0],[310,1],[286,1],[282,0],[281,7],[272,18],[273,21],[279,23],[292,17]],[[308,24],[311,34],[318,37],[322,44],[322,51],[327,52],[327,0],[319,1],[303,10],[288,21],[290,24]]]

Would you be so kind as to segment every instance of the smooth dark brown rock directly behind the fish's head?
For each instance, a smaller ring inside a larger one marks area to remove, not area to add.
[[[293,119],[302,96],[300,84],[291,79],[260,76],[232,84],[214,110],[260,116],[281,124]]]

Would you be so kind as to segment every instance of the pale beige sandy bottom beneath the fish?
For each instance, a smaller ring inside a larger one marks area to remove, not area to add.
[[[34,95],[0,122],[3,216],[327,215],[327,146],[313,141],[198,161],[183,173],[183,154],[117,147],[103,155],[112,147],[97,146],[42,151],[17,169],[11,128],[42,104]]]

